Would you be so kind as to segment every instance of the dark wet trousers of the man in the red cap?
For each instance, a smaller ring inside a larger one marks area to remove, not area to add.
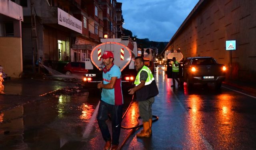
[[[102,137],[105,141],[110,141],[111,136],[108,129],[108,125],[106,124],[106,120],[108,120],[108,114],[111,115],[112,121],[112,144],[119,144],[119,136],[121,130],[121,122],[122,122],[122,110],[123,105],[111,105],[102,100],[100,100],[100,106],[98,110],[98,125],[100,131],[102,133]]]

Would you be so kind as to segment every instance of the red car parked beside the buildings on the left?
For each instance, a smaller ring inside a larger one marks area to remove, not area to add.
[[[63,69],[63,72],[70,76],[71,74],[82,74],[82,76],[88,72],[87,69],[85,69],[85,63],[84,62],[68,62]]]

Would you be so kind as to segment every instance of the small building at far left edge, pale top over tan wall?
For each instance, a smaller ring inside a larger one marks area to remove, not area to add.
[[[22,6],[10,1],[0,1],[0,66],[14,78],[21,77],[22,66]]]

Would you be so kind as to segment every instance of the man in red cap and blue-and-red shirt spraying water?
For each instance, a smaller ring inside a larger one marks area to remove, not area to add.
[[[114,65],[114,55],[110,51],[105,51],[101,56],[103,58],[103,82],[98,84],[102,88],[100,106],[98,110],[98,125],[103,139],[106,141],[105,150],[117,150],[122,122],[123,95],[121,87],[121,71]],[[112,121],[112,139],[108,130],[106,120],[108,114],[111,115]],[[111,147],[112,141],[112,147]]]

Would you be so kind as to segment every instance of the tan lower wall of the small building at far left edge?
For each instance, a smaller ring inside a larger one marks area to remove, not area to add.
[[[8,76],[21,77],[23,71],[21,38],[0,37],[0,64]]]

